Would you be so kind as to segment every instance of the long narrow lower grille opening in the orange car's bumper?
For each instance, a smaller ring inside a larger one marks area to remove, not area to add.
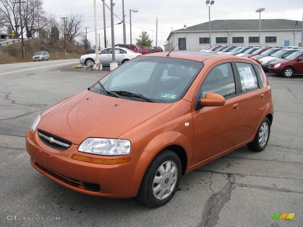
[[[100,192],[100,185],[95,183],[89,183],[84,182],[76,179],[72,179],[70,177],[64,176],[60,173],[55,172],[52,169],[47,168],[46,166],[43,166],[42,164],[36,162],[32,159],[32,163],[38,168],[41,169],[43,172],[47,173],[48,175],[60,180],[61,182],[64,182],[70,186],[73,186],[75,188],[84,189],[91,192]]]

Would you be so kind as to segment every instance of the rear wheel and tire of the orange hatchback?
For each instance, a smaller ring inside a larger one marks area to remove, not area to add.
[[[255,135],[255,139],[247,144],[249,150],[260,152],[264,150],[268,143],[270,135],[270,121],[267,117],[261,122],[260,127]]]

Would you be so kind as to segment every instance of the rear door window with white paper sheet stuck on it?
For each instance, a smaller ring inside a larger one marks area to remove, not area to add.
[[[236,62],[241,80],[242,92],[258,88],[257,76],[252,64]]]

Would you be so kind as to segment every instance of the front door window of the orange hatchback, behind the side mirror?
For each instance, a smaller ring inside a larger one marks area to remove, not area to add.
[[[220,64],[213,68],[201,86],[201,97],[209,92],[217,93],[223,97],[236,94],[235,77],[231,63]]]

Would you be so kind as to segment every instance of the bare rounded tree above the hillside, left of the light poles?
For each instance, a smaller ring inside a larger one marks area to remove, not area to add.
[[[83,16],[80,14],[69,14],[69,18],[61,22],[61,30],[62,34],[64,33],[64,27],[65,27],[65,34],[66,38],[69,42],[73,42],[74,39],[78,36],[78,31],[81,29]],[[64,38],[64,37],[63,37]]]

